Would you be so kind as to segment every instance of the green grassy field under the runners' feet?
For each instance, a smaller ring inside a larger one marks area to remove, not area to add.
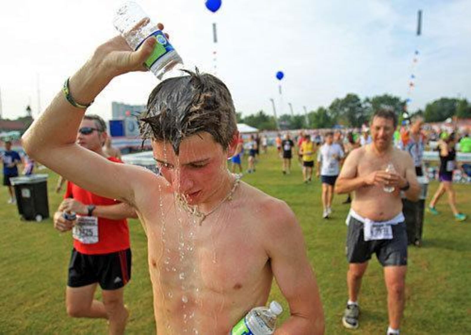
[[[281,161],[271,151],[262,155],[257,172],[243,180],[286,201],[302,226],[309,260],[317,275],[325,310],[326,334],[384,334],[388,326],[382,268],[370,262],[360,294],[360,328],[347,331],[341,315],[347,300],[345,274],[344,196],[336,196],[333,218],[322,220],[320,183],[302,183],[300,167],[282,175]],[[61,201],[54,193],[57,175],[49,173],[51,215]],[[41,173],[43,172],[41,171]],[[437,188],[430,184],[429,194]],[[471,186],[456,185],[458,208],[471,214]],[[430,196],[429,196],[430,197]],[[59,234],[49,218],[41,223],[20,221],[16,207],[0,193],[0,334],[105,334],[106,322],[73,319],[65,313],[64,295],[72,238]],[[409,247],[406,310],[401,334],[471,334],[471,220],[452,219],[446,199],[426,214],[422,248]],[[128,334],[154,334],[152,291],[147,271],[146,236],[130,220],[133,251],[132,280],[125,290],[131,310]],[[99,297],[99,293],[97,293]],[[271,299],[287,305],[276,284]],[[282,320],[288,313],[283,313]]]

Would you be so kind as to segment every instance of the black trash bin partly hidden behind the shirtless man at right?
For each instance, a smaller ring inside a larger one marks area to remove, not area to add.
[[[426,176],[417,177],[422,188],[419,201],[407,200],[402,194],[402,212],[406,217],[407,243],[422,245],[423,213],[425,210],[425,200],[427,199],[427,189],[429,180]]]

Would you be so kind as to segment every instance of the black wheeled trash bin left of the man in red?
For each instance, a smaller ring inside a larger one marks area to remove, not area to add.
[[[24,220],[49,218],[48,175],[30,175],[10,178],[15,188],[18,213]]]

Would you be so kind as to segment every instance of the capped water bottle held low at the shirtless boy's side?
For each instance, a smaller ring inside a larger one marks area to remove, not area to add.
[[[270,335],[275,333],[276,318],[283,312],[283,307],[270,302],[270,307],[255,307],[240,320],[229,335]]]

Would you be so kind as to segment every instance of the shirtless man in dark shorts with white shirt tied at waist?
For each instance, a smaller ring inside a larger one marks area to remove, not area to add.
[[[375,112],[371,122],[373,142],[349,154],[335,184],[336,193],[355,192],[347,218],[349,301],[342,323],[347,328],[358,327],[361,279],[371,254],[376,253],[388,290],[388,335],[399,334],[405,299],[407,234],[400,190],[412,201],[417,201],[420,193],[410,155],[392,146],[396,126],[394,112]],[[388,163],[397,172],[386,172],[384,166]],[[385,187],[394,187],[394,191],[388,193]]]

